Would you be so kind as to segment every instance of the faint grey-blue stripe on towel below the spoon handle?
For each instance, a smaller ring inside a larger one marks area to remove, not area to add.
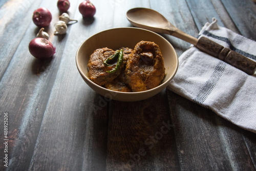
[[[203,104],[206,98],[210,95],[216,84],[218,83],[220,77],[222,76],[226,63],[220,61],[215,67],[214,72],[211,74],[210,78],[205,82],[202,89],[199,91],[197,97],[194,99],[195,102],[199,104]]]

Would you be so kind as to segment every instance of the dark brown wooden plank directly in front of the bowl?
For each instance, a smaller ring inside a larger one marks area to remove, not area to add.
[[[138,102],[111,101],[107,170],[179,167],[165,91]]]

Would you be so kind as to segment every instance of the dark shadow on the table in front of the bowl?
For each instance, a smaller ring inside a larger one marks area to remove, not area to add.
[[[93,105],[103,98],[96,95]],[[114,170],[167,169],[166,161],[172,161],[168,168],[177,167],[177,148],[166,98],[162,91],[138,102],[111,100],[89,116],[87,145],[98,161],[94,165],[105,157],[105,167]]]

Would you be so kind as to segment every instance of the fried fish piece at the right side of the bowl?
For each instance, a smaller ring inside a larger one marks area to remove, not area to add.
[[[159,86],[165,75],[159,46],[151,41],[138,42],[127,60],[125,74],[133,92]]]

